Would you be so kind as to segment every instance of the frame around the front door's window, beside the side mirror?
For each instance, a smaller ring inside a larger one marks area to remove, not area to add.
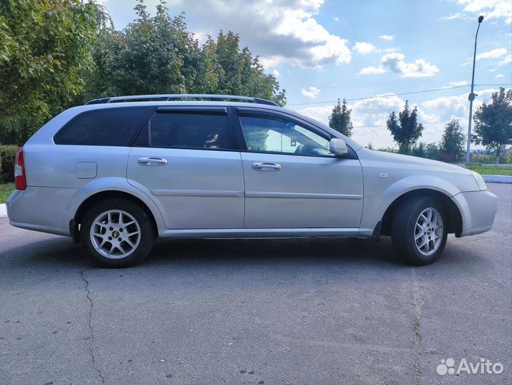
[[[240,145],[240,152],[241,153],[255,153],[255,154],[276,154],[276,155],[294,155],[294,156],[309,156],[313,158],[330,158],[330,159],[359,159],[356,152],[347,144],[347,150],[348,152],[344,155],[315,155],[315,154],[295,154],[295,153],[282,153],[280,151],[254,151],[254,150],[248,150],[247,149],[247,142],[245,140],[245,133],[242,127],[242,122],[240,122],[240,117],[242,116],[249,116],[254,118],[269,118],[269,119],[285,119],[290,120],[291,123],[295,123],[297,125],[300,125],[303,128],[306,128],[307,130],[312,131],[313,133],[319,135],[320,137],[324,138],[325,140],[331,140],[332,138],[336,138],[334,135],[331,135],[330,133],[327,133],[326,131],[322,130],[322,128],[317,127],[316,125],[312,125],[311,123],[297,118],[296,116],[290,115],[288,113],[283,113],[281,111],[273,111],[273,110],[265,110],[262,111],[260,108],[250,108],[250,107],[240,107],[235,108],[236,113],[233,114],[233,120],[236,120],[237,122],[237,129],[240,132],[239,139],[242,140],[242,143],[239,143]],[[241,136],[241,138],[240,138]]]

